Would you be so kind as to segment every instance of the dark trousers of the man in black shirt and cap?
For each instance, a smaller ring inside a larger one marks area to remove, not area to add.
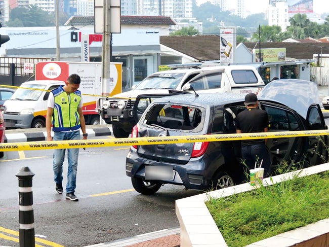
[[[246,174],[249,174],[250,169],[255,168],[255,162],[257,162],[257,167],[260,166],[261,160],[262,167],[264,168],[264,178],[269,177],[271,172],[271,160],[268,150],[265,144],[253,144],[248,146],[242,146],[242,160],[244,160],[248,169],[244,169]]]

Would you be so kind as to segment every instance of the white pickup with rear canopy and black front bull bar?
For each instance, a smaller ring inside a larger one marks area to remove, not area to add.
[[[257,69],[250,65],[181,64],[171,67],[171,70],[146,77],[131,91],[99,98],[99,114],[106,123],[112,124],[115,137],[128,137],[136,124],[133,108],[138,95],[170,93],[170,90],[258,93],[265,86]]]

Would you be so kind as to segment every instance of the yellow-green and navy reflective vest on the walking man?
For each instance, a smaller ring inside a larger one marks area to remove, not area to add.
[[[78,105],[81,92],[67,94],[62,86],[51,91],[54,94],[53,131],[69,131],[80,128]]]

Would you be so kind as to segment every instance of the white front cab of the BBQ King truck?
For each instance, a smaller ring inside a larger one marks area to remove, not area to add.
[[[46,127],[47,100],[50,90],[65,85],[62,81],[24,82],[4,105],[6,128]]]

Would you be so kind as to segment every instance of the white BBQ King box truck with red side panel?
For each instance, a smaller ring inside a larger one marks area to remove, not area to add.
[[[121,63],[110,64],[114,92],[121,92],[121,66]],[[49,92],[64,85],[71,74],[78,74],[81,78],[79,90],[83,97],[86,124],[99,124],[97,103],[102,94],[101,62],[38,62],[35,65],[36,80],[22,83],[4,103],[7,108],[4,112],[6,128],[46,127]]]

